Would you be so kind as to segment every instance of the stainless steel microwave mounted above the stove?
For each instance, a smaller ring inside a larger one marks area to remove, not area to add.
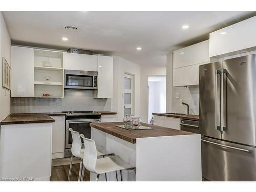
[[[98,72],[65,70],[65,89],[98,89]]]

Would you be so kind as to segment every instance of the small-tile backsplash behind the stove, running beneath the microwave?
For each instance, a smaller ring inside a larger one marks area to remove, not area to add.
[[[64,98],[11,98],[11,113],[111,111],[111,99],[94,99],[91,90],[65,90]]]

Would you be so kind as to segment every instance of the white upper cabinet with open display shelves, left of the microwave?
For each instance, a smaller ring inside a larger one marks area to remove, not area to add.
[[[63,97],[63,53],[12,46],[11,97]]]

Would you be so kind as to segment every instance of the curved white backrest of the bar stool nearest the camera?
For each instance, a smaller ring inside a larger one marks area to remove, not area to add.
[[[95,145],[94,140],[88,139],[84,137],[83,134],[80,135],[83,139],[84,143],[84,155],[83,155],[83,165],[86,167],[87,170],[93,173],[96,172],[96,162],[97,162],[97,148]]]

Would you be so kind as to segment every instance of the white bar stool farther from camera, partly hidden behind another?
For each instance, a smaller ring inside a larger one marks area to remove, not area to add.
[[[79,176],[78,181],[81,180],[81,170],[82,170],[82,159],[84,157],[84,148],[82,148],[82,142],[80,138],[80,134],[76,131],[73,131],[71,128],[69,128],[69,131],[72,135],[72,147],[71,147],[71,161],[70,161],[70,167],[69,167],[69,177],[68,181],[70,181],[71,176],[71,169],[72,169],[72,161],[73,157],[81,158],[80,160],[80,168],[79,168]],[[96,153],[97,156],[108,156],[108,155],[114,155],[113,153],[106,152],[102,147],[99,147]]]

